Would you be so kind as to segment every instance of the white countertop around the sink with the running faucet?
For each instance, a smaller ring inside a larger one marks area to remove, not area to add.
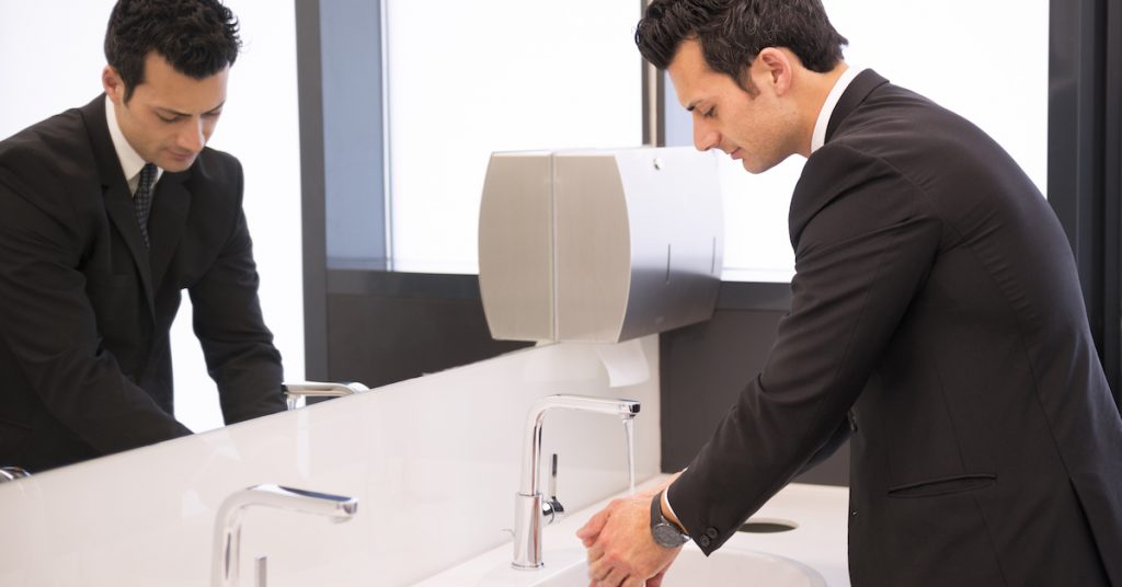
[[[659,476],[638,487],[652,487],[665,479]],[[753,534],[738,532],[724,548],[755,550],[778,554],[807,565],[817,570],[830,587],[848,587],[847,511],[849,490],[845,487],[791,484],[776,494],[752,516],[753,521],[782,520],[794,522],[798,528],[787,532]],[[564,496],[559,496],[564,503]],[[581,557],[583,548],[577,530],[596,512],[604,508],[605,499],[587,510],[545,528],[542,536],[544,572],[549,572],[551,556],[557,561],[571,562]],[[512,507],[514,498],[512,496]],[[687,545],[692,548],[692,544]],[[444,572],[416,584],[417,587],[465,587],[477,585],[496,570],[509,567],[512,547],[508,543],[470,559]],[[535,572],[535,571],[522,571]],[[536,571],[542,572],[542,571]]]

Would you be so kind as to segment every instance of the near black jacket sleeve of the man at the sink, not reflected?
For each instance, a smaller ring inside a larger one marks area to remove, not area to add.
[[[925,203],[879,158],[828,145],[808,159],[791,202],[791,312],[673,484],[674,512],[707,554],[837,438],[937,253]]]

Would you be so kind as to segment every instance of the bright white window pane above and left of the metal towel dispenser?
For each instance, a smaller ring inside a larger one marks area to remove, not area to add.
[[[638,8],[385,1],[393,269],[478,272],[493,152],[642,143]]]

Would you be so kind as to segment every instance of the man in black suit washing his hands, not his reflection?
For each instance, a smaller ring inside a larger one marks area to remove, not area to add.
[[[980,129],[842,59],[818,0],[655,0],[699,149],[791,200],[790,313],[760,375],[665,490],[579,532],[596,585],[661,583],[852,438],[857,586],[1122,585],[1122,421],[1070,247]]]

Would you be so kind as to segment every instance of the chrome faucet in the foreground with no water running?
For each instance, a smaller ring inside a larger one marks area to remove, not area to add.
[[[279,485],[255,485],[230,494],[222,502],[214,520],[212,587],[238,585],[241,570],[241,512],[250,505],[265,505],[291,512],[322,515],[333,522],[346,522],[358,511],[358,501],[352,497],[305,492]],[[259,574],[263,574],[263,559],[258,559]]]

